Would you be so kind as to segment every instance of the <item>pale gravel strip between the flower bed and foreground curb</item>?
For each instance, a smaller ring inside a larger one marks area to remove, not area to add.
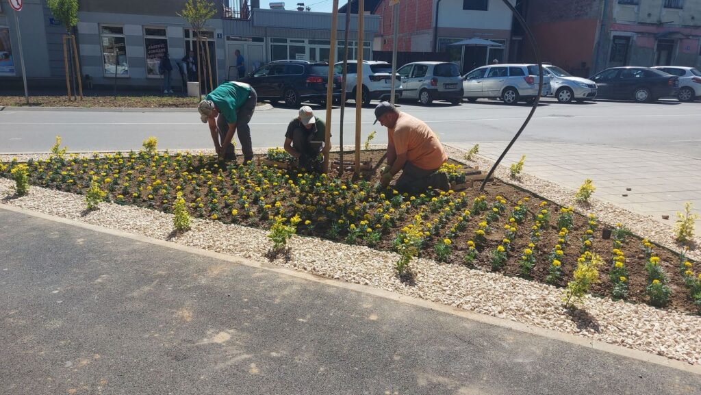
[[[11,180],[0,178],[0,197],[12,194],[12,185]],[[3,203],[161,240],[172,231],[170,214],[101,203],[99,210],[82,215],[83,196],[40,187],[31,187],[27,196]],[[598,209],[594,206],[597,214]],[[613,218],[609,216],[613,213],[600,215],[602,219]],[[636,232],[646,234],[632,225]],[[189,232],[171,241],[261,262],[267,261],[271,246],[264,230],[210,220],[193,220]],[[411,263],[416,283],[410,286],[393,273],[398,258],[395,253],[321,239],[311,243],[299,236],[294,236],[289,246],[287,260],[280,257],[273,263],[701,365],[699,316],[595,297],[585,298],[582,310],[571,316],[562,307],[561,289],[533,281],[418,259]]]

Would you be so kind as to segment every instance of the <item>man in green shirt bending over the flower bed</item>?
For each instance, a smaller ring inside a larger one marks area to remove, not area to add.
[[[251,128],[248,122],[256,109],[256,91],[247,83],[222,83],[198,105],[202,123],[209,123],[212,141],[219,160],[236,160],[233,134],[238,130],[238,141],[243,151],[243,162],[253,160]]]

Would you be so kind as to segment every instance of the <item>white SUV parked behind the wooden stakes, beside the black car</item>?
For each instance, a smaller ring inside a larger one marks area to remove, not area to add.
[[[343,75],[343,62],[334,65],[334,72]],[[402,81],[395,74],[395,95],[402,95]],[[358,85],[358,61],[348,60],[346,74],[346,100],[355,100],[355,87]],[[362,61],[362,104],[369,105],[370,100],[389,100],[392,88],[392,65],[376,60]]]

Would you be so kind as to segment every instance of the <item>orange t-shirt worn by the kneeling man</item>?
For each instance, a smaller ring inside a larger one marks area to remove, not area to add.
[[[407,161],[423,170],[433,170],[448,160],[438,136],[421,119],[399,113],[394,129],[388,129],[390,144],[397,155],[407,154]]]

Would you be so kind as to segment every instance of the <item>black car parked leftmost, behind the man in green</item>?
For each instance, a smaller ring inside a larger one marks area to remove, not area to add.
[[[249,83],[261,100],[285,100],[290,107],[301,102],[325,102],[329,64],[307,60],[275,60],[238,81]],[[334,74],[334,99],[341,97],[341,76]]]

